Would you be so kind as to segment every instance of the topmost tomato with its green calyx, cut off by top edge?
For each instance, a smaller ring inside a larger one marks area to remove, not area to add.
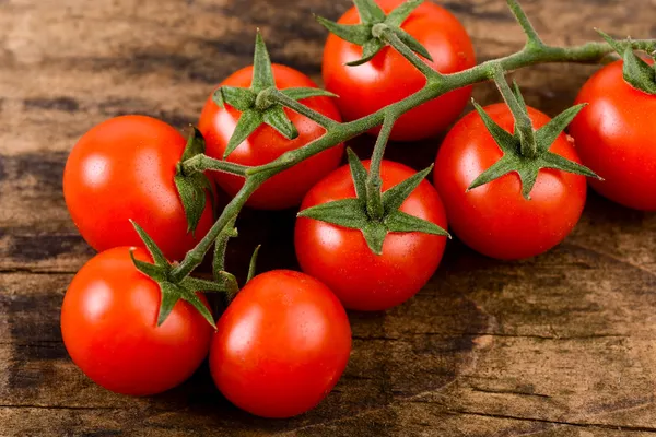
[[[326,90],[340,96],[336,103],[348,121],[399,102],[426,83],[402,55],[373,35],[377,24],[393,29],[436,71],[455,73],[476,64],[465,27],[450,12],[430,1],[363,0],[337,23],[325,19],[319,23],[331,32],[324,48]],[[470,95],[471,86],[465,86],[403,114],[391,139],[434,137],[456,120]]]

